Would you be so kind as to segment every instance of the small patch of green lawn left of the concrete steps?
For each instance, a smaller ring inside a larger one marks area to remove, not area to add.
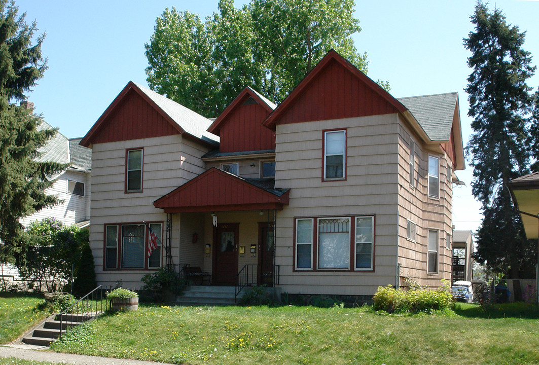
[[[0,343],[16,340],[50,315],[38,295],[0,293]]]

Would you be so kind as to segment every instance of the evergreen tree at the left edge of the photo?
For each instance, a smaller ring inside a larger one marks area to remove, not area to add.
[[[16,105],[36,85],[46,69],[41,54],[44,36],[36,23],[27,25],[14,2],[0,0],[0,261],[12,261],[16,253],[24,261],[24,231],[19,219],[57,203],[45,189],[49,178],[66,168],[39,161],[39,149],[56,133],[38,129],[41,118]]]

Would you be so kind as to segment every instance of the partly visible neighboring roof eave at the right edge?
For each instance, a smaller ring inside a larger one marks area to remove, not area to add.
[[[515,178],[507,187],[519,210],[526,237],[539,238],[539,173]]]

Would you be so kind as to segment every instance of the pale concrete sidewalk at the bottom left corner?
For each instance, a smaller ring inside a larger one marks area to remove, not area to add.
[[[48,361],[53,363],[77,365],[163,365],[162,362],[112,359],[110,357],[72,355],[40,351],[40,349],[43,350],[47,348],[48,347],[32,345],[0,346],[0,357],[16,357],[17,359],[24,360]]]

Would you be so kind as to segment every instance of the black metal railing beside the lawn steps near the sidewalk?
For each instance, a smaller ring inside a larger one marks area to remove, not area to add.
[[[81,323],[85,320],[85,317],[87,319],[110,309],[110,301],[107,300],[107,293],[110,291],[112,291],[112,285],[100,285],[61,312],[57,316],[60,318],[60,334],[58,337],[61,338],[64,325],[67,332],[68,328],[73,327],[74,323]]]

